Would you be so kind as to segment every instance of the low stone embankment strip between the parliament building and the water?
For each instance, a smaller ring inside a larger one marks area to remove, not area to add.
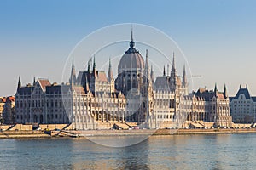
[[[0,139],[22,138],[58,138],[58,137],[96,137],[96,136],[130,136],[130,135],[193,135],[220,133],[256,133],[256,128],[241,129],[138,129],[138,130],[87,130],[87,131],[3,131]]]

